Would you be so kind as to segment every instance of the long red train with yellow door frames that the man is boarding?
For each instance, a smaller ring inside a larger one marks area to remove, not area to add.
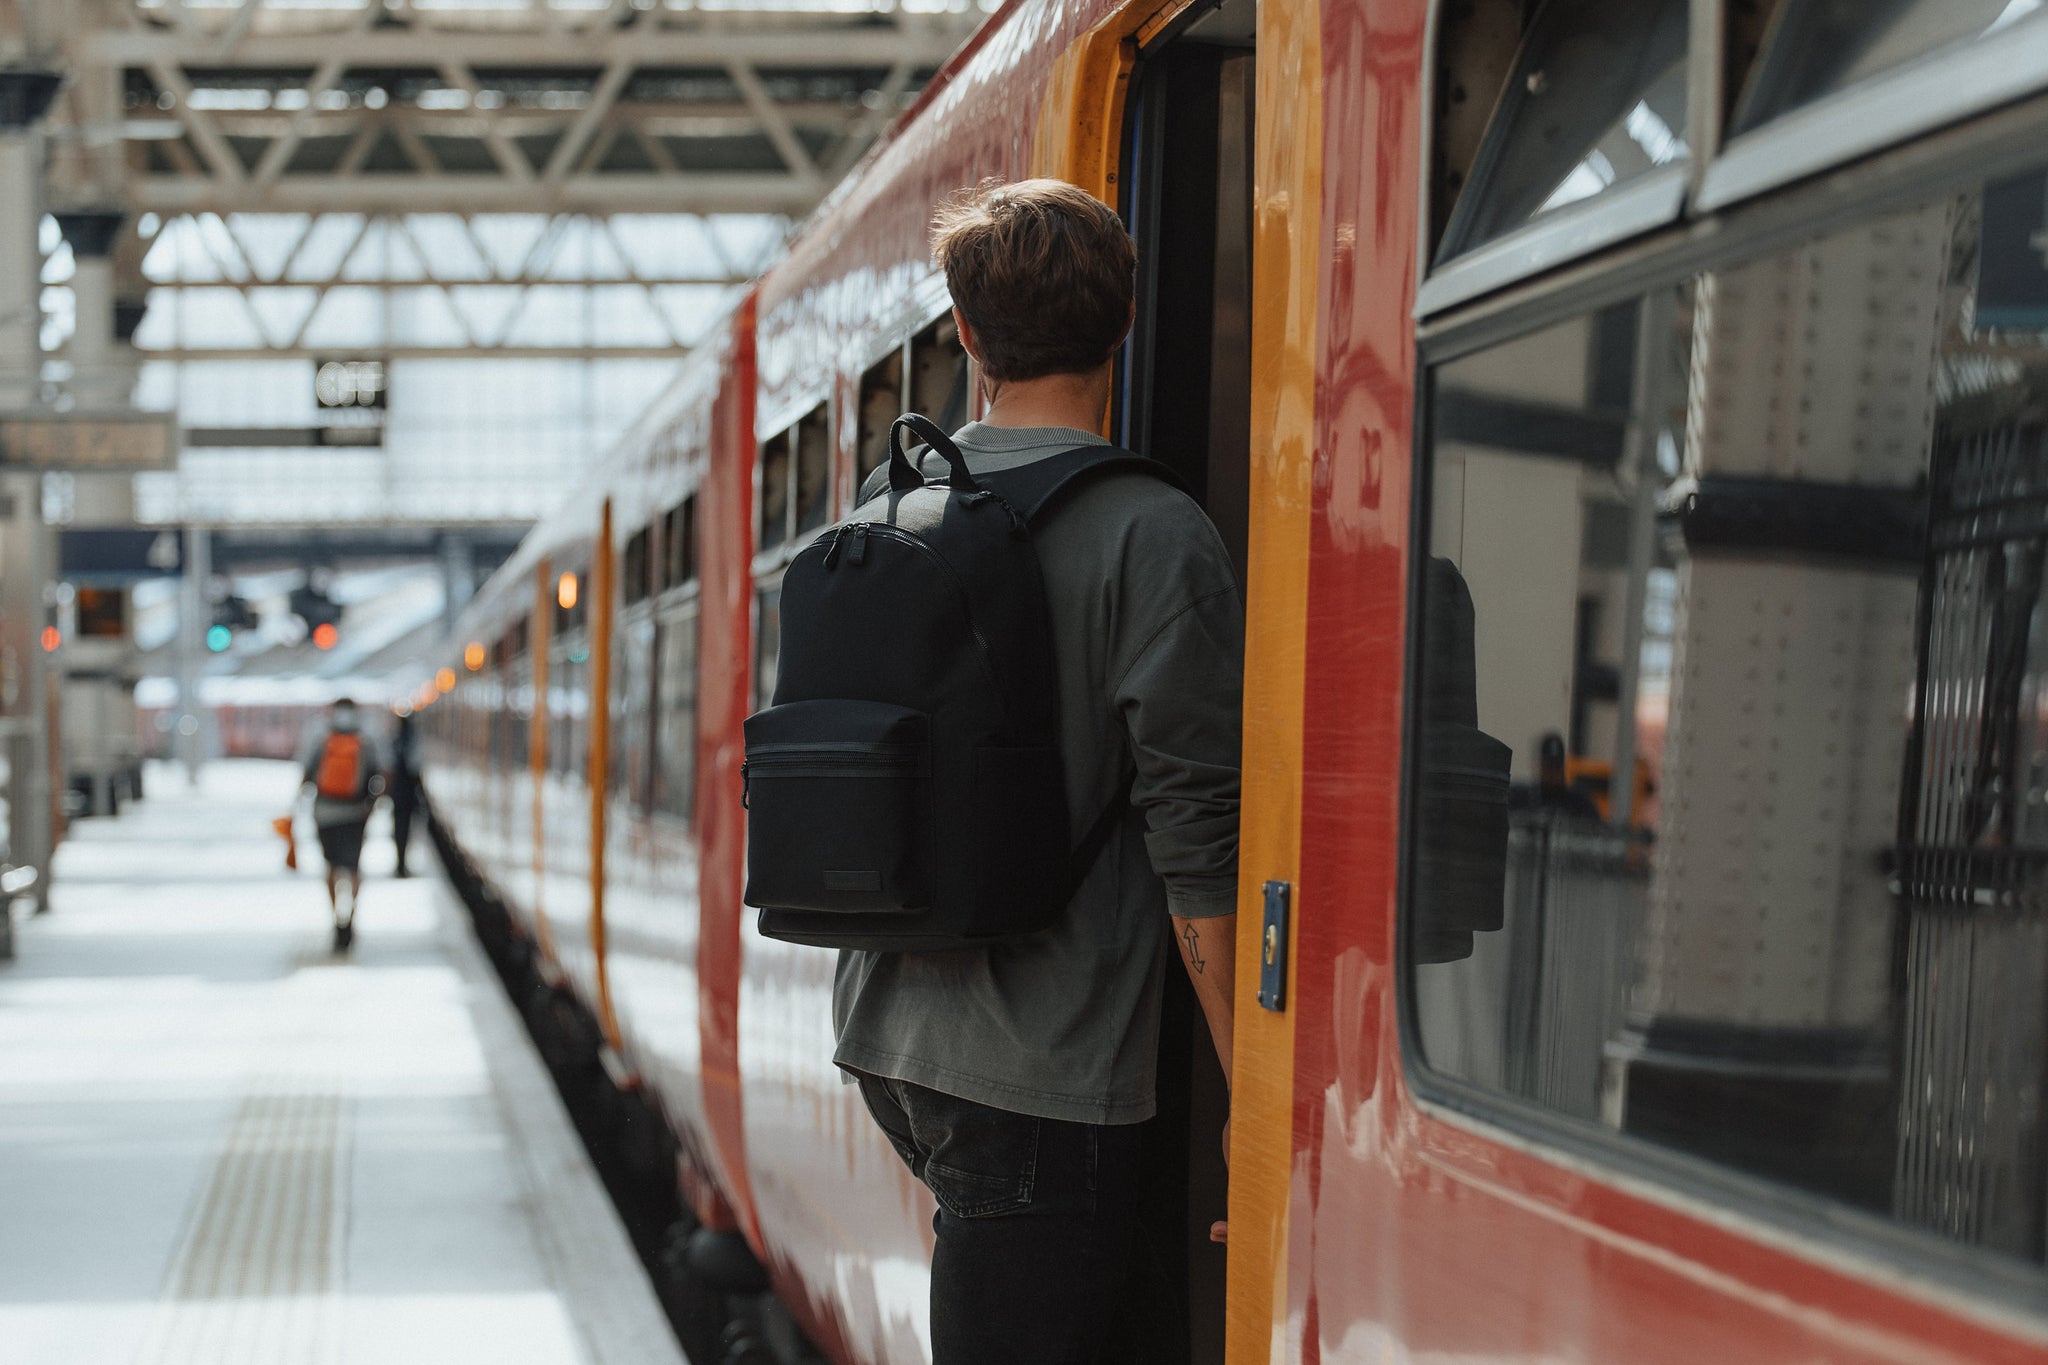
[[[1227,1287],[1169,1027],[1147,1334],[2048,1359],[2040,8],[1022,0],[940,74],[430,712],[442,821],[834,1359],[926,1359],[930,1205],[831,958],[745,927],[739,720],[887,417],[973,407],[930,203],[1024,174],[1139,235],[1112,434],[1247,585]]]

